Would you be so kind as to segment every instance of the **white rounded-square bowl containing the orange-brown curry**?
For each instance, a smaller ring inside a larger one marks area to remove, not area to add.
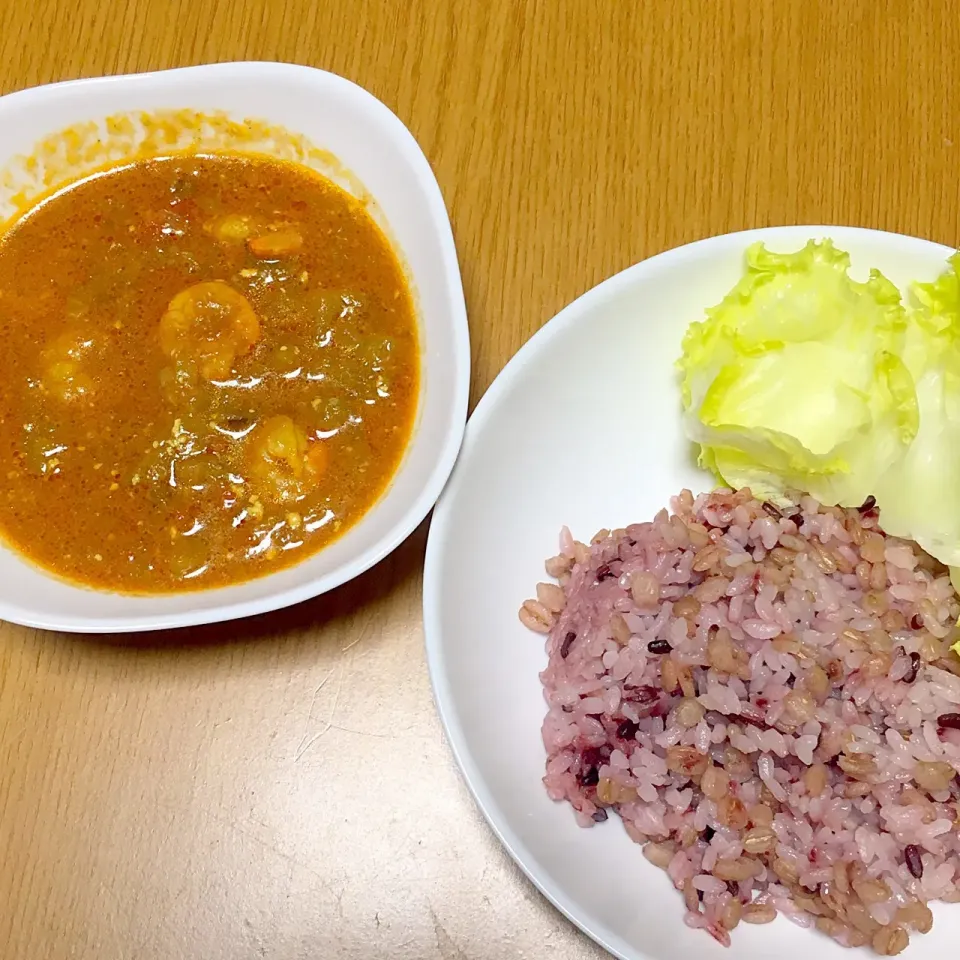
[[[418,307],[417,424],[380,500],[340,539],[296,566],[236,586],[131,596],[58,580],[0,546],[4,620],[74,632],[135,632],[229,620],[317,596],[373,566],[417,527],[460,448],[470,344],[450,221],[416,140],[365,90],[322,70],[279,63],[226,63],[37,87],[0,97],[0,169],[76,124],[165,110],[265,121],[329,151],[362,184],[407,268]]]

